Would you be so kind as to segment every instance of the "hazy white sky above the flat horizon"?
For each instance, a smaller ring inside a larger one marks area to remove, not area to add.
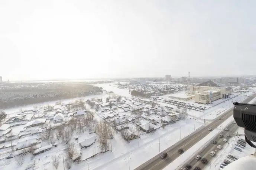
[[[255,6],[255,0],[0,0],[0,76],[256,74]]]

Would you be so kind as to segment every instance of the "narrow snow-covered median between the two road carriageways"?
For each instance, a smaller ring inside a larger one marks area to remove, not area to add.
[[[188,159],[191,159],[191,157],[196,156],[195,154],[197,154],[198,150],[201,150],[202,147],[204,147],[208,142],[211,142],[211,140],[213,140],[213,138],[216,137],[216,135],[218,135],[219,132],[219,129],[214,129],[207,136],[205,136],[194,146],[189,148],[187,151],[181,154],[181,156],[177,157],[173,162],[166,166],[164,170],[179,169],[181,166],[183,166],[185,162],[187,162]]]

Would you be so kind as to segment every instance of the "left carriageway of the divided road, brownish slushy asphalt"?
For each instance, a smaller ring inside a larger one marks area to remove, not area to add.
[[[250,96],[246,100],[244,100],[244,103],[247,103],[251,101],[253,98],[256,97],[256,94]],[[147,162],[143,163],[139,167],[137,167],[135,170],[160,170],[166,167],[168,164],[170,164],[173,160],[175,160],[177,157],[180,156],[178,153],[178,149],[182,148],[184,149],[184,152],[188,150],[190,147],[195,145],[197,142],[199,142],[202,138],[204,138],[206,135],[208,135],[209,130],[208,128],[215,129],[218,126],[221,125],[227,118],[229,118],[231,115],[233,115],[233,110],[229,110],[226,113],[223,113],[223,115],[219,116],[218,118],[221,118],[221,120],[218,120],[217,118],[214,119],[212,123],[210,123],[207,126],[202,127],[201,129],[195,131],[194,133],[191,133],[187,137],[183,138],[179,142],[175,143],[171,147],[167,148],[163,152],[159,153],[155,157],[151,158]],[[162,153],[168,153],[168,157],[166,159],[161,159]]]

